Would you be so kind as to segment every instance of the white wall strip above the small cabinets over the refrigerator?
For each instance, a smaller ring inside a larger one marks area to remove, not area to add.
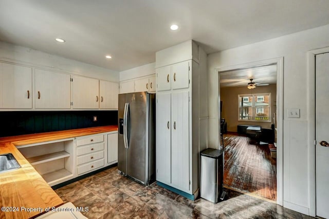
[[[120,71],[120,81],[125,81],[133,78],[149,76],[155,74],[155,62]]]

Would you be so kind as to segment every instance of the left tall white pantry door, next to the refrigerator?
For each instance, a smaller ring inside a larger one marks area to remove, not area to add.
[[[171,183],[170,94],[156,95],[156,180]]]

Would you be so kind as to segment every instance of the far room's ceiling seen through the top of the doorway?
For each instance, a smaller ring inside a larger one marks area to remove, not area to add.
[[[220,73],[221,87],[247,87],[250,82],[256,84],[276,84],[277,83],[277,65],[264,65],[253,68],[230,70]]]

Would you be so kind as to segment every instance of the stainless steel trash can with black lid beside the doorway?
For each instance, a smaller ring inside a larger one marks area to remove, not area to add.
[[[224,151],[208,148],[200,153],[200,196],[217,203],[223,200]]]

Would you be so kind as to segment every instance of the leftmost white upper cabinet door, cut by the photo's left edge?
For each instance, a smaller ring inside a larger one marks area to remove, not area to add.
[[[0,108],[32,108],[32,68],[0,63]]]

